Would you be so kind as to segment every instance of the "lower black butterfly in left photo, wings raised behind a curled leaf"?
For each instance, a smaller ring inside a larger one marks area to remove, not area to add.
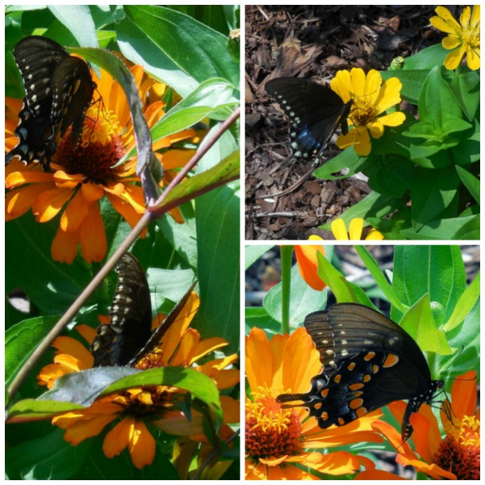
[[[152,351],[173,324],[195,283],[152,333],[150,288],[139,261],[130,253],[116,267],[118,281],[109,314],[111,322],[98,327],[91,344],[94,367],[131,365]]]

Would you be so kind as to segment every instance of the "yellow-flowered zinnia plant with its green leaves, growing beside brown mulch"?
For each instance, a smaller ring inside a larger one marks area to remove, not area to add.
[[[443,44],[401,58],[397,69],[353,68],[330,82],[353,100],[354,127],[337,140],[346,150],[315,176],[345,169],[340,177],[361,173],[371,188],[340,215],[345,224],[358,216],[387,240],[479,238],[479,12],[466,6],[458,22],[438,7],[430,22],[448,34]]]

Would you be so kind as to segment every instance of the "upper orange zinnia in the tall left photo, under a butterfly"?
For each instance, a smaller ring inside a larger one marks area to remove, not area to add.
[[[146,121],[152,127],[164,115],[164,103],[149,103],[148,94],[166,86],[145,76],[139,66],[130,71],[139,86]],[[48,222],[60,214],[51,253],[53,259],[64,263],[72,263],[79,245],[88,263],[105,257],[107,238],[100,212],[104,197],[132,227],[145,212],[143,191],[135,175],[136,157],[116,166],[135,146],[126,96],[112,76],[103,70],[101,73],[101,79],[94,73],[93,78],[105,109],[95,103],[87,110],[79,146],[71,146],[69,129],[51,160],[51,172],[43,172],[37,163],[25,166],[18,157],[6,168],[6,220],[19,218],[29,209],[37,222]],[[6,105],[6,150],[11,150],[17,145],[15,113],[19,112],[21,101],[7,98]],[[153,148],[168,148],[175,141],[194,135],[193,130],[184,130],[157,141]],[[177,163],[183,166],[193,153],[171,150],[159,157],[166,168],[174,168]],[[166,177],[170,179],[170,174]],[[177,222],[183,222],[177,210],[172,215]]]

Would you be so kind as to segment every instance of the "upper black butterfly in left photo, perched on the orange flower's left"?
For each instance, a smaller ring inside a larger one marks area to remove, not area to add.
[[[71,125],[71,145],[77,145],[96,84],[85,61],[47,37],[21,39],[13,55],[26,96],[15,130],[19,143],[6,155],[6,164],[17,155],[26,164],[37,160],[48,171],[51,157]]]

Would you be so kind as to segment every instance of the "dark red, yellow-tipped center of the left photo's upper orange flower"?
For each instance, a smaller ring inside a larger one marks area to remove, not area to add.
[[[116,116],[100,113],[93,105],[86,113],[78,145],[71,145],[71,129],[67,130],[53,162],[62,165],[70,175],[81,173],[89,182],[107,184],[116,179],[112,166],[125,152],[119,131]]]

